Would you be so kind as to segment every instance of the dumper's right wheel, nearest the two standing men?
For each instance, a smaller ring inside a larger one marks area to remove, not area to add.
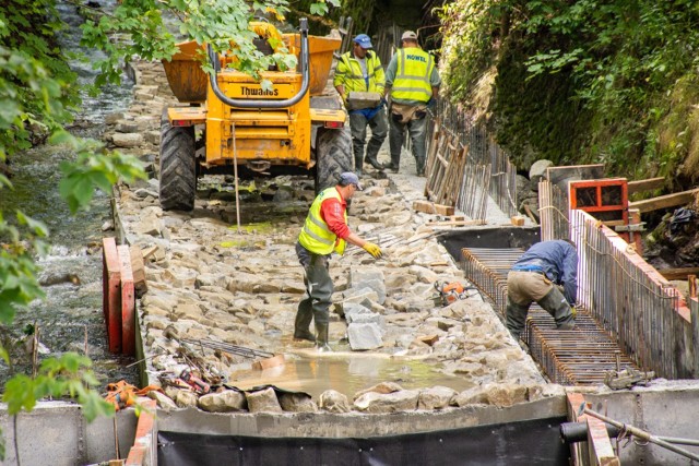
[[[316,193],[335,186],[340,174],[353,169],[350,128],[319,129],[316,138]]]

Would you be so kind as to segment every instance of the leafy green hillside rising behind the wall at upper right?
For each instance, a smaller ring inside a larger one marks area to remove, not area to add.
[[[455,0],[442,11],[449,94],[520,169],[699,178],[699,2]]]

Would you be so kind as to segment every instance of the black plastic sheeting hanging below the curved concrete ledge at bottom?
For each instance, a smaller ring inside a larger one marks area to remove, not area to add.
[[[568,465],[566,418],[370,439],[260,438],[159,431],[158,466]],[[309,420],[309,422],[311,422]],[[390,422],[390,417],[381,418]]]

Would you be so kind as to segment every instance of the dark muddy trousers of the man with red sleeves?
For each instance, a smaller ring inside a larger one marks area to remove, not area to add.
[[[330,304],[332,304],[332,292],[334,290],[332,278],[330,277],[330,254],[315,254],[296,243],[296,255],[298,262],[304,266],[304,284],[306,294],[298,303],[296,312],[295,333],[308,332],[310,321],[316,321],[316,331],[319,334],[328,334],[328,322],[330,320]]]

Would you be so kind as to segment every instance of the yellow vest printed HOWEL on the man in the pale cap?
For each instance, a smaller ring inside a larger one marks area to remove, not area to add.
[[[391,98],[426,103],[433,96],[429,76],[435,69],[435,59],[417,47],[402,48],[398,53]]]

